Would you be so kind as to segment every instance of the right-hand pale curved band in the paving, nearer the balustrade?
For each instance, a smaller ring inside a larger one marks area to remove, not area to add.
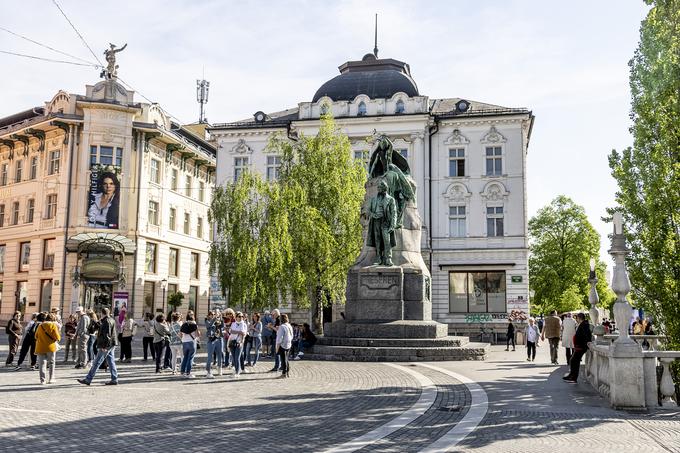
[[[437,439],[435,442],[431,443],[424,449],[420,450],[420,453],[438,453],[443,451],[451,451],[456,445],[458,445],[463,439],[465,439],[468,434],[470,434],[482,421],[486,412],[489,408],[489,399],[486,396],[486,392],[481,385],[474,382],[461,374],[454,371],[449,371],[444,368],[440,368],[434,365],[428,365],[425,363],[419,363],[418,365],[430,368],[431,370],[438,371],[440,373],[451,376],[454,379],[459,380],[467,387],[470,395],[472,396],[472,403],[470,404],[470,410],[465,414],[465,417],[456,426],[451,428],[449,432],[444,434],[442,437]]]

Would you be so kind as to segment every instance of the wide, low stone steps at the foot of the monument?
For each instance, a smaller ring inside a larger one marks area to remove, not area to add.
[[[468,343],[465,347],[359,347],[317,344],[305,360],[353,362],[423,362],[443,360],[484,360],[488,343]]]

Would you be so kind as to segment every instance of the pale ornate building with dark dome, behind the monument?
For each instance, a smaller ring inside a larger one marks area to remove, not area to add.
[[[418,185],[432,318],[447,323],[452,334],[479,338],[484,331],[484,341],[504,338],[508,317],[520,320],[529,312],[531,111],[464,97],[431,99],[420,92],[407,63],[374,53],[338,69],[340,74],[321,83],[311,101],[213,125],[216,183],[229,184],[246,169],[275,179],[280,156],[265,152],[271,135],[315,135],[324,113],[333,115],[349,136],[353,157],[366,165],[371,137],[386,134]],[[287,310],[297,318],[309,316]],[[325,321],[333,318],[330,312],[324,316]]]

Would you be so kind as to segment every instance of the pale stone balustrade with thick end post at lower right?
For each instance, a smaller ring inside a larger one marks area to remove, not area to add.
[[[617,409],[677,408],[670,365],[680,360],[680,351],[659,350],[659,342],[665,340],[662,335],[630,338],[635,341],[634,347],[617,347],[618,335],[603,335],[590,343],[585,364],[588,382]],[[645,340],[648,350],[641,347]]]

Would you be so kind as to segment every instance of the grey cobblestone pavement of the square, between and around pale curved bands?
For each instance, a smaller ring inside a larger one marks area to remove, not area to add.
[[[141,342],[139,342],[141,343]],[[494,346],[484,362],[436,365],[480,384],[488,412],[450,451],[680,452],[680,411],[614,411],[585,382],[566,384],[565,366],[549,365],[547,344],[535,363],[521,348]],[[0,346],[2,356],[6,345]],[[138,357],[138,351],[135,351]],[[316,452],[379,429],[414,406],[417,379],[377,363],[294,361],[290,379],[275,379],[271,361],[239,379],[155,375],[151,361],[120,364],[117,387],[100,371],[90,387],[83,370],[59,364],[57,383],[38,384],[35,371],[0,368],[0,451]],[[437,389],[431,407],[406,426],[363,446],[366,452],[417,452],[456,426],[470,392],[456,379],[420,364],[400,364]],[[415,406],[414,406],[415,407]]]

